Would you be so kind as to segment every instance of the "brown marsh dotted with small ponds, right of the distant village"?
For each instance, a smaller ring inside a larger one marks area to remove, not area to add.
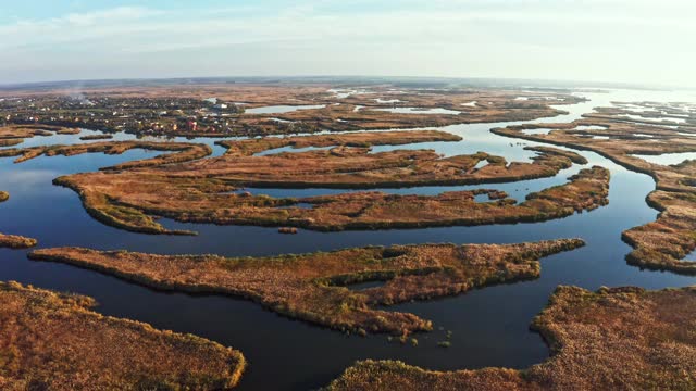
[[[572,96],[555,96],[551,100],[517,101],[517,91],[405,89],[401,93],[394,94],[382,88],[371,90],[373,93],[357,93],[348,98],[336,98],[326,91],[314,92],[304,96],[302,100],[274,104],[322,104],[321,109],[281,114],[247,113],[237,121],[244,125],[243,131],[247,131],[243,135],[424,128],[556,116],[564,112],[552,109],[550,104],[569,104],[580,100]],[[395,98],[398,98],[398,102],[394,101]],[[470,105],[473,101],[477,103]],[[247,102],[251,104],[245,108],[266,105],[265,102],[253,99]],[[403,113],[387,111],[395,108],[418,110]],[[431,109],[446,109],[450,112],[423,112]]]

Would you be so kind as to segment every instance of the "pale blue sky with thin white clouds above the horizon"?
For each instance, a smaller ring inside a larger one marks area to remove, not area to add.
[[[444,76],[696,87],[694,0],[23,0],[0,84]]]

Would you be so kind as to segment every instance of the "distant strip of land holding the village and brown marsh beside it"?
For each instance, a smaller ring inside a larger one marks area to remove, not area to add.
[[[0,118],[136,135],[231,137],[299,133],[422,128],[452,124],[533,121],[563,114],[583,101],[568,93],[471,88],[369,86],[336,93],[331,85],[197,84],[84,88],[79,99],[62,89],[0,91]],[[341,86],[340,88],[344,88]],[[526,94],[526,93],[525,93]],[[214,98],[213,98],[214,97]],[[290,106],[254,112],[264,106]],[[293,110],[299,106],[302,110]],[[284,109],[284,108],[281,108]],[[285,108],[287,109],[287,108]],[[401,110],[399,110],[401,109]],[[58,114],[60,113],[60,114]]]

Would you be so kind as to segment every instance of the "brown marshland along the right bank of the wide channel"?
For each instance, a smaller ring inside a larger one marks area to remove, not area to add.
[[[600,125],[605,129],[576,130],[575,127],[580,125]],[[551,130],[548,135],[522,133],[523,129],[537,127],[558,130]],[[626,260],[641,267],[696,274],[696,263],[681,261],[696,250],[696,162],[661,165],[634,156],[696,152],[696,139],[663,126],[597,115],[571,124],[511,126],[493,131],[508,137],[591,150],[629,169],[650,175],[656,181],[657,190],[648,195],[647,202],[659,210],[660,214],[656,222],[623,232],[624,241],[634,248]],[[609,138],[594,139],[594,136]]]

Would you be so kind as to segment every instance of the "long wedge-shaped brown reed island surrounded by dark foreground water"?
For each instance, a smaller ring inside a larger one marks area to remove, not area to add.
[[[537,278],[538,258],[581,245],[579,239],[421,244],[246,258],[59,248],[38,250],[29,257],[91,268],[158,289],[244,297],[279,314],[335,329],[407,335],[430,330],[431,321],[373,306]],[[371,280],[385,283],[361,291],[345,287]]]

